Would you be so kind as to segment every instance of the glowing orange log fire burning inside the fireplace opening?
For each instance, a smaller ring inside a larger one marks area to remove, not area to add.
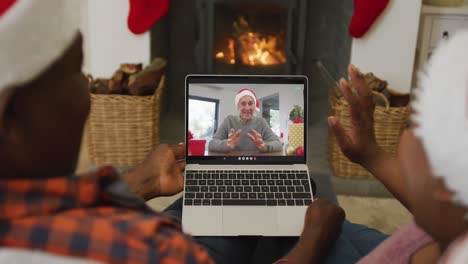
[[[287,10],[280,6],[215,7],[214,60],[244,66],[286,63]]]

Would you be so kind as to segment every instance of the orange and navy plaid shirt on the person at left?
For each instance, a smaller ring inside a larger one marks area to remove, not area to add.
[[[109,167],[82,177],[0,180],[1,246],[107,263],[212,262]]]

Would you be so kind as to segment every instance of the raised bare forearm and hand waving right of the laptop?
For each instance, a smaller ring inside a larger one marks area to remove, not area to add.
[[[352,89],[344,79],[340,90],[350,107],[351,129],[346,131],[337,117],[328,118],[343,154],[351,161],[362,165],[379,179],[388,190],[405,206],[408,194],[397,158],[385,153],[378,145],[374,131],[375,100],[363,75],[350,65],[349,76]]]

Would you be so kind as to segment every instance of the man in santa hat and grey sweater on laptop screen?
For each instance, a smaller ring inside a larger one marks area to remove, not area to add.
[[[227,116],[208,145],[212,152],[282,151],[281,142],[265,119],[256,116],[259,102],[255,93],[241,89],[235,98],[239,115]]]

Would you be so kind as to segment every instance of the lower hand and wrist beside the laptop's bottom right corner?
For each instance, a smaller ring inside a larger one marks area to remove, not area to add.
[[[286,258],[291,263],[318,263],[341,234],[344,219],[342,208],[316,199],[307,208],[299,242]]]

